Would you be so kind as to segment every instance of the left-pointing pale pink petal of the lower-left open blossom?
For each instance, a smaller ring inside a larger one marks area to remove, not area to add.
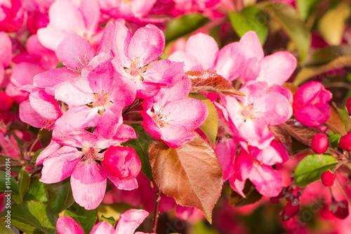
[[[69,146],[63,146],[56,150],[44,160],[40,181],[58,183],[71,176],[72,171],[81,160],[81,155],[80,151]]]

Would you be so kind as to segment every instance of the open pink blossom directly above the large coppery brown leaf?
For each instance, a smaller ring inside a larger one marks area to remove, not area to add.
[[[143,126],[151,136],[161,139],[171,148],[178,148],[194,140],[193,130],[206,120],[206,105],[194,98],[187,98],[190,80],[183,77],[170,89],[163,88],[156,96],[144,100]]]

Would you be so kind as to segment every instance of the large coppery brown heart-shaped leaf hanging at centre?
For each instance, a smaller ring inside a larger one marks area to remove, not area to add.
[[[199,135],[180,148],[152,138],[149,157],[159,190],[177,204],[200,209],[211,223],[223,186],[222,167],[211,145]]]

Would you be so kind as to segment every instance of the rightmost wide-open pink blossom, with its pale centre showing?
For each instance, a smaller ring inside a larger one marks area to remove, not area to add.
[[[266,82],[248,82],[239,91],[246,96],[223,96],[223,106],[240,136],[263,149],[274,139],[268,126],[282,124],[291,117],[289,100],[270,91]]]

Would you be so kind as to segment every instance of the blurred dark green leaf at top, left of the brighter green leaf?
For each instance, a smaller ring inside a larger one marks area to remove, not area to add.
[[[182,15],[169,22],[164,36],[166,43],[190,34],[198,30],[201,26],[205,25],[210,20],[201,13]]]

